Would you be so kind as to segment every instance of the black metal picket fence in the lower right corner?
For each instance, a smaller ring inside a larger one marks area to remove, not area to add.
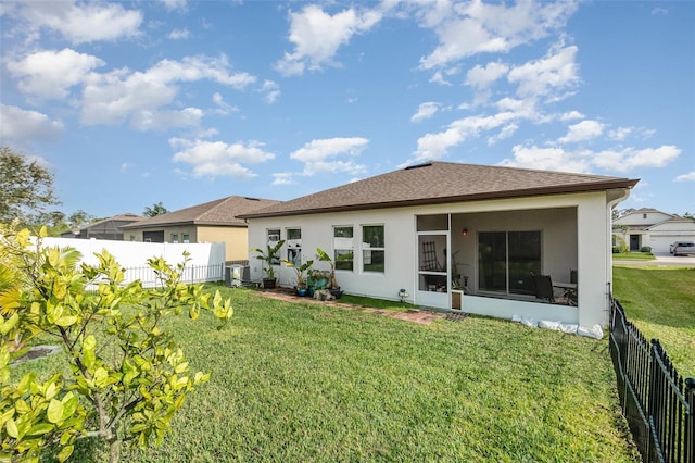
[[[658,339],[647,341],[612,298],[610,356],[642,460],[694,463],[695,378],[680,376]]]

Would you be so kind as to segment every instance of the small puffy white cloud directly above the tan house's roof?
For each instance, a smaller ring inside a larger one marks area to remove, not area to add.
[[[228,145],[224,141],[172,138],[169,146],[177,150],[173,161],[191,165],[197,177],[251,178],[256,174],[242,164],[258,164],[275,159],[274,153],[263,149],[262,142],[254,140]]]

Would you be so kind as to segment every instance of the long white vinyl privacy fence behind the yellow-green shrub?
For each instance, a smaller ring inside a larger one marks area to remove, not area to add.
[[[113,241],[105,239],[45,238],[43,246],[71,247],[83,255],[81,262],[98,265],[96,253],[102,250],[114,255],[116,262],[125,268],[126,284],[139,279],[142,286],[159,286],[156,275],[148,266],[148,259],[162,256],[172,266],[184,262],[184,252],[189,252],[182,279],[185,283],[220,281],[225,279],[225,243],[169,243]]]

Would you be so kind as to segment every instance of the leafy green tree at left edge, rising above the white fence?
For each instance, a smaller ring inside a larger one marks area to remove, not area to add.
[[[53,174],[37,161],[0,147],[0,222],[24,218],[59,203],[53,196]]]

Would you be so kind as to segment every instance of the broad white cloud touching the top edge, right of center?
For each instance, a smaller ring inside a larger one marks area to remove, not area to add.
[[[576,10],[573,2],[522,1],[508,8],[481,1],[426,2],[421,25],[434,28],[439,46],[420,59],[420,67],[440,67],[483,52],[508,52],[546,37]]]

